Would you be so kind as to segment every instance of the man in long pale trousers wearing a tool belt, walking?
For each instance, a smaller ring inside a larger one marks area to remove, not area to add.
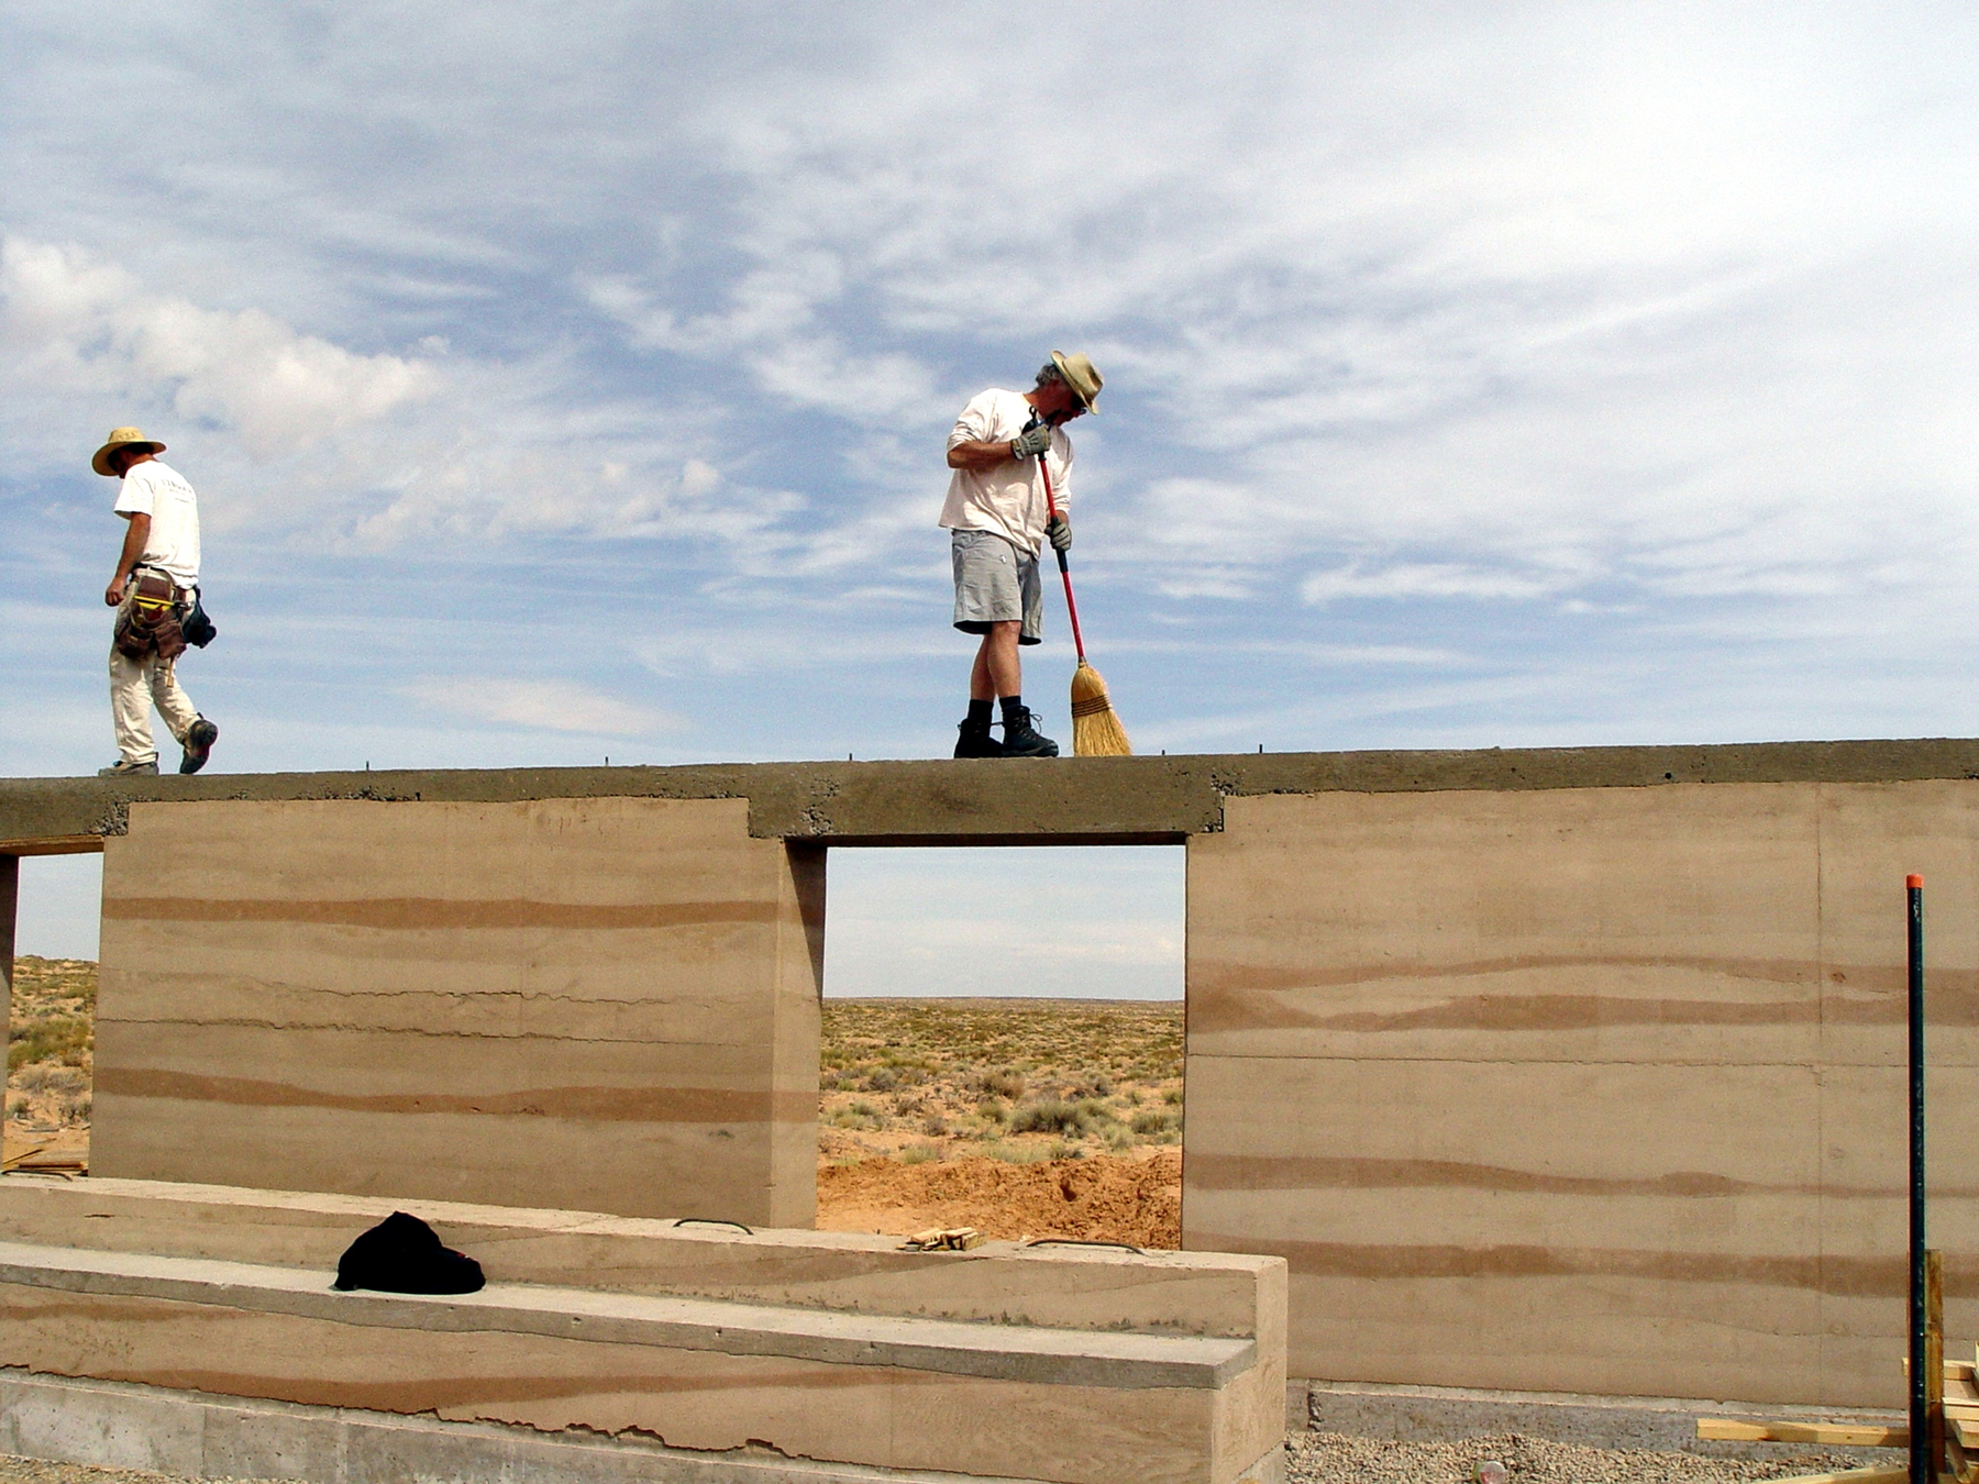
[[[178,772],[206,766],[220,728],[200,716],[178,685],[172,661],[186,651],[180,621],[200,590],[200,503],[192,485],[158,463],[164,443],[137,427],[117,427],[89,461],[105,479],[117,479],[117,514],[129,520],[117,576],[103,602],[117,609],[111,641],[111,720],[117,726],[117,764],[101,778],[156,774],[158,750],[150,742],[150,708],[164,716],[184,748]],[[194,635],[198,637],[198,635]]]

